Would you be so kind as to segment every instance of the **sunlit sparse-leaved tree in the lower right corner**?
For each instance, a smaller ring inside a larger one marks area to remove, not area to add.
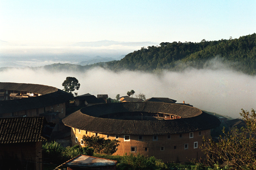
[[[204,139],[202,151],[206,155],[205,166],[219,167],[226,164],[229,170],[255,170],[256,169],[256,113],[244,111],[240,115],[246,122],[241,129],[232,128],[230,132],[223,133],[218,142],[213,139]],[[225,167],[224,167],[225,169]]]

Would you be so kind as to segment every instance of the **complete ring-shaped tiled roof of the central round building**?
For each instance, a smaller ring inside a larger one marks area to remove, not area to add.
[[[110,113],[167,113],[182,117],[173,120],[117,120],[99,118]],[[162,102],[123,102],[99,104],[82,108],[66,118],[67,126],[89,132],[109,134],[176,134],[212,129],[221,123],[215,116],[185,105]]]

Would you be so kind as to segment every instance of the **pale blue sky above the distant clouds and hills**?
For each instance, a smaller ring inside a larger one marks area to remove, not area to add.
[[[173,42],[256,32],[256,1],[0,0],[0,40]]]

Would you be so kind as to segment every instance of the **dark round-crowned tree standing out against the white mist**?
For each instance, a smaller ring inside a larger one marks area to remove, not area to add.
[[[63,90],[67,91],[68,93],[72,93],[72,91],[79,90],[80,83],[78,83],[78,80],[74,77],[67,77],[66,80],[62,83],[62,86],[64,87]],[[75,96],[77,96],[77,93],[75,92]]]

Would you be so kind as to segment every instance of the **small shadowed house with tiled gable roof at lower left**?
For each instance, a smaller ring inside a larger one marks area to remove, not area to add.
[[[44,117],[0,118],[0,169],[42,169],[42,141],[55,124]]]

